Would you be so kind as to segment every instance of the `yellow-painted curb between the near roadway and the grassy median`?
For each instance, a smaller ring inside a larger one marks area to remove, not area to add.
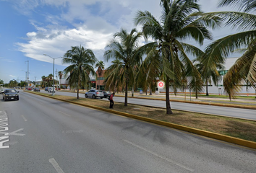
[[[69,103],[72,103],[74,105],[81,105],[81,106],[85,106],[85,107],[90,107],[90,108],[93,108],[95,110],[102,110],[104,112],[110,112],[110,113],[117,114],[117,115],[123,115],[125,117],[132,117],[132,118],[137,119],[137,120],[142,120],[142,121],[149,122],[149,123],[154,123],[154,124],[157,124],[157,125],[163,125],[163,126],[166,126],[168,128],[175,128],[175,129],[186,131],[186,132],[189,132],[189,133],[195,133],[195,134],[200,135],[200,136],[205,136],[205,137],[208,137],[208,138],[214,138],[214,139],[217,139],[217,140],[220,140],[220,141],[225,141],[225,142],[228,142],[228,143],[234,143],[234,144],[239,145],[239,146],[245,146],[245,147],[248,147],[248,148],[256,149],[256,142],[253,142],[253,141],[247,141],[247,140],[240,139],[240,138],[225,136],[225,135],[221,135],[221,134],[218,134],[218,133],[208,132],[208,131],[205,131],[205,130],[198,130],[196,128],[189,128],[189,127],[184,126],[184,125],[176,125],[174,123],[167,123],[167,122],[164,122],[164,121],[161,121],[161,120],[154,120],[154,119],[148,118],[148,117],[140,117],[140,116],[137,116],[137,115],[132,115],[132,114],[125,113],[125,112],[119,112],[119,111],[116,111],[116,110],[108,110],[108,109],[102,108],[102,107],[95,107],[95,106],[92,106],[92,105],[85,105],[85,104],[82,104],[82,103],[72,102],[72,101],[68,101],[68,100],[64,100],[64,99],[57,99],[57,98],[54,98],[54,97],[45,96],[45,95],[38,94],[38,93],[32,93],[32,94],[37,94],[37,95],[40,95],[40,96],[43,96],[43,97],[48,97],[48,98],[51,98],[51,99],[60,100],[62,102],[69,102]]]

